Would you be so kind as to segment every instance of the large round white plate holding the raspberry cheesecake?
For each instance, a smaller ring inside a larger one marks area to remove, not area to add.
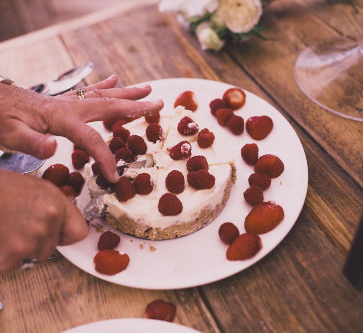
[[[206,122],[214,124],[217,124],[217,121],[210,113],[210,101],[221,98],[227,89],[233,87],[227,83],[194,78],[163,79],[146,83],[152,87],[147,99],[162,98],[165,112],[173,110],[174,101],[180,93],[186,90],[193,91],[198,103],[196,114],[199,118],[205,118]],[[59,252],[80,269],[115,284],[143,289],[177,289],[227,278],[243,271],[272,251],[290,231],[300,214],[306,197],[308,168],[304,149],[288,121],[262,98],[248,91],[245,93],[245,105],[235,113],[242,116],[244,121],[251,116],[267,115],[272,118],[274,125],[267,138],[260,141],[253,140],[246,130],[241,135],[234,135],[228,128],[216,125],[218,132],[215,135],[224,135],[226,147],[234,152],[237,182],[232,187],[226,207],[214,221],[185,237],[167,241],[148,241],[122,234],[103,221],[94,220],[90,223],[90,232],[84,240],[58,247]],[[102,122],[91,125],[99,130],[104,138],[110,134],[104,129]],[[203,124],[200,126],[204,128]],[[218,229],[222,223],[231,221],[239,228],[240,233],[244,232],[244,218],[252,207],[244,201],[242,193],[249,187],[248,176],[253,173],[253,167],[242,160],[241,148],[245,143],[252,142],[258,145],[259,156],[277,155],[285,165],[282,175],[272,179],[271,186],[263,193],[264,201],[273,200],[283,207],[285,217],[274,230],[260,235],[262,249],[256,256],[243,261],[229,261],[226,259],[227,245],[220,240]],[[63,163],[69,166],[70,170],[74,170],[71,161],[72,151],[73,145],[68,140],[58,138],[56,154],[46,161],[41,171],[54,163]],[[118,233],[121,242],[116,250],[127,253],[130,257],[127,269],[113,276],[99,274],[93,264],[102,230]]]

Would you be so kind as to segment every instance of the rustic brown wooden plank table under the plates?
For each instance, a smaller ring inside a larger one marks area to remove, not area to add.
[[[199,77],[241,86],[269,101],[298,133],[308,160],[309,188],[294,228],[263,260],[207,286],[148,291],[116,286],[65,259],[0,275],[0,332],[59,332],[112,318],[142,317],[150,301],[177,306],[176,323],[202,332],[362,332],[363,291],[342,275],[362,214],[363,123],[312,103],[293,78],[308,44],[362,33],[363,1],[278,0],[264,12],[265,35],[200,50],[196,38],[149,1],[125,1],[0,44],[0,72],[24,85],[92,60],[87,84],[116,73],[119,86]],[[145,2],[147,2],[145,4]],[[141,5],[142,3],[142,5]]]

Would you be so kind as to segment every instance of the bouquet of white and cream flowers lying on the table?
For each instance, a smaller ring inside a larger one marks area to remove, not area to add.
[[[262,7],[271,0],[162,0],[160,11],[178,12],[179,22],[194,32],[203,50],[218,52],[226,40],[259,35]]]

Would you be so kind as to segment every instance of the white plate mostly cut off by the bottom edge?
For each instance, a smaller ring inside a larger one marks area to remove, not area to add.
[[[63,333],[200,333],[186,326],[153,319],[110,319],[77,326]]]

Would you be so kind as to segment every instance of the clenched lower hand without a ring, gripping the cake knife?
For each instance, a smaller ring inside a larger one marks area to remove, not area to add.
[[[51,182],[1,170],[0,183],[0,271],[87,236],[81,212]]]

